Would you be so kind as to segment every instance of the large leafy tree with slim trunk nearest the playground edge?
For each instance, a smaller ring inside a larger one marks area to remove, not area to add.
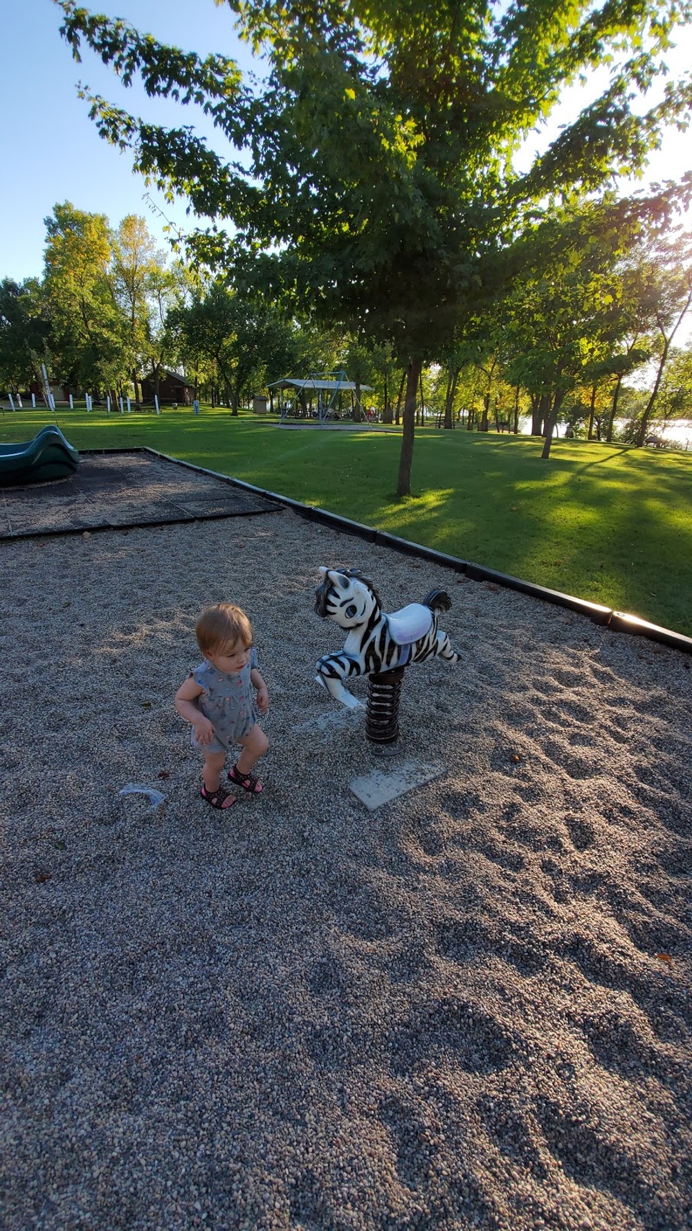
[[[661,126],[683,122],[671,84],[637,114],[632,96],[665,71],[662,53],[688,0],[230,0],[267,63],[244,84],[233,62],[204,60],[63,0],[63,34],[124,84],[198,102],[243,156],[227,162],[190,128],[165,132],[100,97],[99,130],[132,146],[139,171],[185,193],[201,217],[197,254],[234,277],[283,288],[330,324],[389,343],[406,367],[398,494],[410,491],[422,363],[463,335],[504,287],[504,252],[527,211],[575,186],[601,191],[643,165]],[[525,175],[511,159],[564,85],[616,52],[602,96]],[[628,58],[629,55],[629,58]]]

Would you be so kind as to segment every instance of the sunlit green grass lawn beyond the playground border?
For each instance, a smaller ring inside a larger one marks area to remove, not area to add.
[[[58,410],[58,420],[79,449],[148,444],[692,635],[692,453],[560,439],[543,462],[529,437],[426,427],[414,495],[398,500],[395,428],[277,428],[208,407],[198,417]],[[44,410],[6,411],[0,441],[30,439],[49,421]]]

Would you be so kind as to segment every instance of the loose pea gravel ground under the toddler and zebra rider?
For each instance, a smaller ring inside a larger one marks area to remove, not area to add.
[[[690,659],[291,512],[0,553],[4,1231],[692,1226]],[[445,772],[373,814],[320,564],[453,601]],[[172,707],[217,599],[271,699],[223,816]]]

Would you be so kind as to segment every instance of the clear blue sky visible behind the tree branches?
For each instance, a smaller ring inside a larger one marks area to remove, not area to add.
[[[97,12],[124,17],[143,32],[201,54],[223,52],[250,66],[250,55],[238,41],[228,9],[213,0],[96,0]],[[193,107],[147,98],[134,86],[123,90],[112,73],[85,52],[76,64],[59,37],[62,10],[52,0],[7,0],[2,14],[2,107],[0,118],[0,277],[37,276],[43,266],[43,219],[57,202],[71,201],[79,209],[105,213],[112,225],[126,214],[147,218],[150,231],[163,238],[164,222],[148,208],[148,191],[133,175],[132,156],[107,145],[89,119],[87,106],[76,96],[76,82],[91,86],[110,101],[169,124],[193,123],[212,135],[213,128]],[[690,39],[690,31],[681,41]],[[690,57],[670,57],[682,73]],[[563,122],[585,101],[575,89],[565,97]],[[554,132],[557,117],[548,132]],[[218,134],[213,135],[217,149]],[[534,143],[532,143],[534,144]],[[692,167],[690,134],[671,133],[651,162],[651,178],[677,178]],[[645,182],[645,181],[644,181]],[[169,206],[149,190],[160,208],[180,227],[188,225],[183,203]]]

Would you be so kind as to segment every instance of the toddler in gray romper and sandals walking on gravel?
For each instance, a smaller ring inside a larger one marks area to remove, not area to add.
[[[234,744],[243,751],[229,771],[230,782],[251,795],[262,783],[250,771],[270,742],[257,724],[257,710],[266,714],[267,686],[257,670],[252,625],[245,612],[231,603],[215,603],[202,612],[195,627],[204,662],[192,671],[175,694],[175,708],[192,723],[191,742],[204,757],[202,799],[212,808],[227,809],[235,795],[225,790],[220,774]],[[256,689],[256,708],[252,698]]]

